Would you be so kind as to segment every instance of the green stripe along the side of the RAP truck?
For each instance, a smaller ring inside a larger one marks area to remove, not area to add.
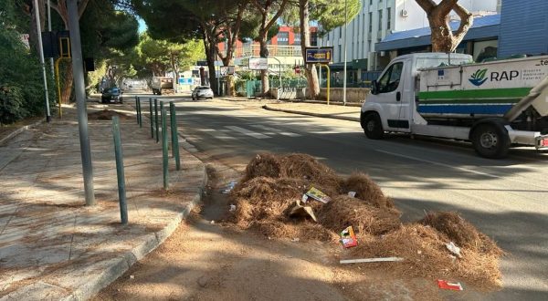
[[[419,92],[418,98],[428,99],[510,99],[527,96],[532,88],[486,88],[477,90],[448,90]]]

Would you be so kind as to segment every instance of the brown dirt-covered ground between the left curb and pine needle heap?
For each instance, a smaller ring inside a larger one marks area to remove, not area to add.
[[[220,191],[240,174],[220,164],[208,171],[201,211],[93,300],[443,298],[435,284],[386,272],[382,264],[339,265],[337,244],[269,239],[219,223],[230,205]]]

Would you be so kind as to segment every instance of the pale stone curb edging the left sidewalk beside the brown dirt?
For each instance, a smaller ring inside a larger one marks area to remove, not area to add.
[[[193,156],[195,157],[195,156]],[[196,158],[196,160],[198,160]],[[200,160],[198,160],[200,161]],[[202,161],[200,161],[202,162]],[[148,238],[142,243],[134,247],[131,251],[121,254],[114,258],[110,264],[110,267],[105,269],[102,273],[96,276],[96,279],[87,285],[81,285],[78,289],[72,291],[68,296],[63,297],[61,300],[88,300],[92,296],[97,295],[103,288],[116,281],[121,275],[127,272],[130,267],[141,260],[147,254],[153,252],[158,246],[174,233],[181,222],[190,214],[190,212],[202,202],[202,195],[205,190],[205,184],[207,182],[207,172],[205,170],[205,164],[201,164],[203,174],[203,182],[201,187],[198,187],[195,196],[184,211],[177,213],[174,219],[168,223],[162,230],[148,235]]]

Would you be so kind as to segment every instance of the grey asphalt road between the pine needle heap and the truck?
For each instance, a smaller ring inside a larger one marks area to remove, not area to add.
[[[144,107],[143,107],[144,108]],[[194,147],[237,170],[261,151],[309,153],[342,174],[369,173],[403,219],[456,211],[509,253],[496,300],[548,299],[548,154],[479,158],[466,143],[393,136],[367,140],[358,122],[271,112],[228,101],[178,101]]]

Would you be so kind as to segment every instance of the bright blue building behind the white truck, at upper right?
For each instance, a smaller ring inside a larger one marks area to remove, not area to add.
[[[453,30],[458,25],[459,21],[450,23]],[[395,32],[376,43],[375,50],[381,52],[382,67],[394,57],[430,51],[430,28]],[[476,61],[547,54],[548,0],[502,0],[500,15],[474,18],[456,52],[472,55]]]

